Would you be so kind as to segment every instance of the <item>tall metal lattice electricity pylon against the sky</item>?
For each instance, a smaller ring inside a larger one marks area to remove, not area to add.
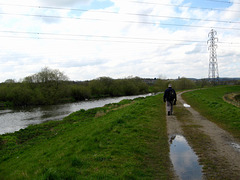
[[[217,31],[211,30],[210,33],[208,33],[209,40],[208,43],[208,50],[210,51],[209,54],[209,72],[208,72],[208,78],[215,80],[216,78],[219,78],[218,74],[218,63],[217,63],[217,42],[218,38],[216,37]]]

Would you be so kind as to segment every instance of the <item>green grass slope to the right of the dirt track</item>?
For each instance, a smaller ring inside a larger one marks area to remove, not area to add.
[[[223,100],[227,93],[240,92],[240,86],[222,86],[183,94],[187,103],[209,120],[240,138],[240,108]]]

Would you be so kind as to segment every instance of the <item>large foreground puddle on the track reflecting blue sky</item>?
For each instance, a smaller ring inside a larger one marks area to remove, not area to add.
[[[202,166],[183,136],[174,135],[170,138],[170,158],[180,179],[202,179]]]

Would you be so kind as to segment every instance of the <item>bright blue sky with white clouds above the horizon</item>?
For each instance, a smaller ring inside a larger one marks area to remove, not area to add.
[[[0,0],[0,82],[48,67],[73,81],[240,77],[239,0]]]

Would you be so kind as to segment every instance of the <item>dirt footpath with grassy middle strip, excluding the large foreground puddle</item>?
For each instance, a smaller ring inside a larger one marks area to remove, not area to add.
[[[240,179],[240,142],[191,107],[178,94],[174,114],[167,116],[168,136],[183,135],[203,165],[204,179]]]

